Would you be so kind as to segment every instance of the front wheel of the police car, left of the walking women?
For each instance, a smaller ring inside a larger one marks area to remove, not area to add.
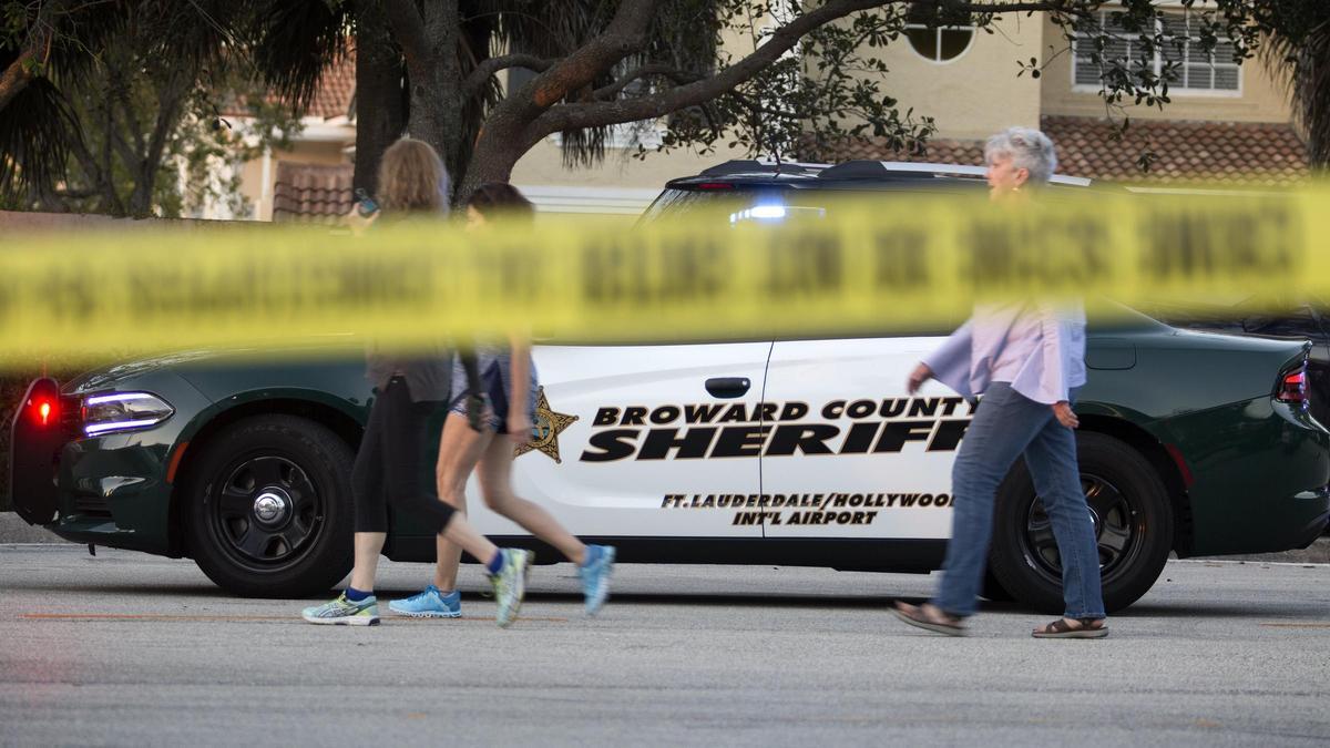
[[[302,598],[351,570],[346,442],[291,415],[262,415],[210,439],[190,471],[185,526],[194,562],[249,598]]]

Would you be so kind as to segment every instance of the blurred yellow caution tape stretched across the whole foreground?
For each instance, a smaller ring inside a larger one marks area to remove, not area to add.
[[[633,230],[541,217],[480,233],[406,222],[362,237],[271,225],[8,236],[0,358],[346,333],[400,347],[507,330],[569,342],[854,335],[938,329],[980,298],[1327,294],[1327,198],[1087,192],[998,206],[880,193],[775,225],[721,208]]]

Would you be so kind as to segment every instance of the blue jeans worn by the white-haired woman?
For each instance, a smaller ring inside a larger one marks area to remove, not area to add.
[[[1052,407],[1021,395],[1008,382],[994,382],[984,393],[951,468],[951,542],[932,604],[959,618],[975,612],[998,484],[1021,454],[1057,539],[1064,615],[1104,618],[1095,520],[1081,491],[1076,437],[1057,422]]]

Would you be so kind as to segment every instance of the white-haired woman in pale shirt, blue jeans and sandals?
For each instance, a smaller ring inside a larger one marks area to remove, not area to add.
[[[984,145],[990,197],[1016,201],[1044,186],[1057,156],[1044,133],[1011,128]],[[1100,590],[1095,522],[1076,463],[1080,423],[1072,403],[1085,385],[1085,313],[1080,303],[1024,301],[978,303],[970,321],[924,358],[906,383],[914,394],[938,379],[974,401],[983,395],[952,466],[951,542],[942,584],[922,606],[896,603],[900,620],[963,636],[974,615],[998,486],[1017,457],[1052,522],[1063,563],[1064,616],[1035,630],[1041,639],[1108,635]]]

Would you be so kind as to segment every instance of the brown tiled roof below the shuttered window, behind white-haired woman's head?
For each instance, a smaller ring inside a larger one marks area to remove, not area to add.
[[[1076,177],[1141,184],[1220,181],[1246,186],[1293,186],[1310,178],[1306,149],[1291,125],[1133,120],[1121,141],[1115,125],[1097,117],[1043,117],[1057,144],[1059,172]],[[1156,154],[1148,172],[1137,160]],[[892,153],[882,142],[857,144],[837,160],[983,164],[983,142],[938,138],[922,156]]]

